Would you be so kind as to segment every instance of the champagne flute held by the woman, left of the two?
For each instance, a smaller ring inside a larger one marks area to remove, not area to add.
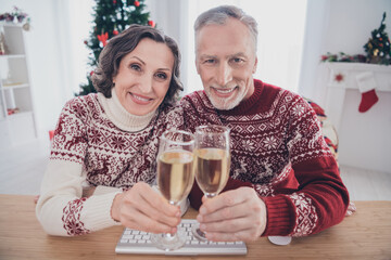
[[[157,154],[157,186],[171,205],[179,205],[194,182],[194,135],[179,130],[165,131],[160,139]],[[166,251],[184,246],[187,234],[152,234],[151,240]]]

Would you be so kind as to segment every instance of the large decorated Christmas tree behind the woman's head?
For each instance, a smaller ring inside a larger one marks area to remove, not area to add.
[[[91,70],[87,75],[88,83],[80,84],[81,90],[75,95],[97,92],[92,86],[91,75],[108,40],[125,30],[130,24],[155,26],[155,23],[149,20],[150,14],[144,8],[144,0],[96,0],[94,25],[89,40],[85,40],[86,47],[91,50],[88,62]]]

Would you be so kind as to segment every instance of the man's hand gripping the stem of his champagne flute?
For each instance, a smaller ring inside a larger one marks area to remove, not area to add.
[[[214,242],[255,240],[266,227],[266,205],[251,187],[202,198],[197,220]]]

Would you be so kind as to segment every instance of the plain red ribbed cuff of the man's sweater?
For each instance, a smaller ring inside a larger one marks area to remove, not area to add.
[[[262,236],[287,236],[294,227],[295,213],[290,199],[283,195],[263,197],[267,209],[267,222]]]

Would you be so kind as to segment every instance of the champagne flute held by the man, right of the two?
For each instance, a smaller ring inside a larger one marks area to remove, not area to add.
[[[195,128],[195,180],[206,198],[216,196],[227,184],[230,168],[229,128],[200,126]],[[193,225],[193,235],[207,240],[200,225]]]

